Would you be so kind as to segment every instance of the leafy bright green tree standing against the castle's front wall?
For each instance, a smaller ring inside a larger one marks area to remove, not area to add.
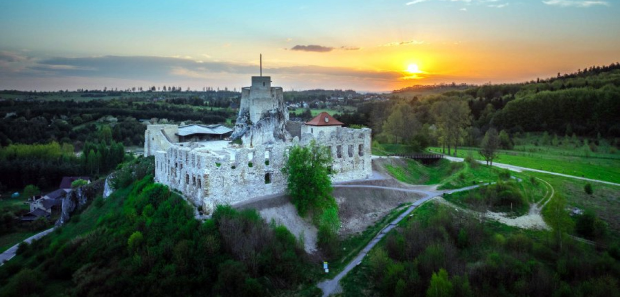
[[[291,148],[282,171],[288,174],[286,190],[300,215],[306,215],[308,210],[321,213],[329,207],[337,209],[327,167],[331,163],[327,147],[316,144],[314,140],[305,147],[295,145]]]

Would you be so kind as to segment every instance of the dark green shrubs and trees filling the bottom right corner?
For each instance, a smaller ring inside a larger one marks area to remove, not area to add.
[[[572,239],[564,239],[562,246],[556,239],[533,239],[516,230],[495,233],[477,218],[443,205],[426,208],[371,252],[362,268],[364,278],[357,280],[362,288],[370,287],[381,296],[613,296],[618,292],[617,246],[598,251]],[[364,285],[365,280],[370,286]]]

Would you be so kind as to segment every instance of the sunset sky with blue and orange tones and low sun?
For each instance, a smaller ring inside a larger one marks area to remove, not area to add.
[[[0,90],[387,91],[620,61],[620,2],[0,0]]]

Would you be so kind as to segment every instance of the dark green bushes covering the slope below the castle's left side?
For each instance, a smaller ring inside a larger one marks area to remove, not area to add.
[[[285,227],[226,206],[200,222],[151,176],[86,211],[101,212],[97,223],[74,220],[20,247],[0,269],[0,295],[274,296],[316,278]],[[92,231],[64,236],[75,228]]]

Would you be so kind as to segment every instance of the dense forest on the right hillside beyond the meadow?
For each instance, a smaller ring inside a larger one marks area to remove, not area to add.
[[[422,98],[364,103],[334,117],[371,127],[379,142],[477,146],[491,127],[510,137],[547,132],[560,137],[620,137],[620,64],[591,67],[523,84],[482,85]],[[614,145],[620,142],[613,141]]]

